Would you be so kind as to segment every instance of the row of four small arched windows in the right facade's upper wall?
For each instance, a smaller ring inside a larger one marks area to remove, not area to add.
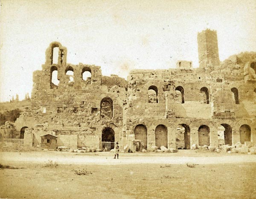
[[[185,94],[184,89],[181,86],[178,86],[175,88],[175,91],[177,91],[178,101],[180,101],[181,104],[185,103]],[[210,104],[210,98],[209,98],[209,90],[207,87],[202,87],[200,89],[200,92],[202,94],[202,97],[204,98],[205,104]],[[231,92],[233,92],[233,100],[236,104],[239,104],[239,92],[238,89],[233,87],[231,89]],[[256,89],[254,89],[254,92],[256,92]],[[156,86],[152,85],[148,87],[148,102],[149,103],[158,103],[158,89]]]

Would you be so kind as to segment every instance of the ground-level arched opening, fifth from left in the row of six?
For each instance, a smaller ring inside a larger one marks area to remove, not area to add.
[[[229,124],[221,124],[218,127],[218,146],[232,145],[232,128]]]

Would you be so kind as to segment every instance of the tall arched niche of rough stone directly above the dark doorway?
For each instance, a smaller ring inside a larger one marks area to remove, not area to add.
[[[103,98],[100,102],[100,118],[108,120],[113,118],[113,101],[111,98]]]

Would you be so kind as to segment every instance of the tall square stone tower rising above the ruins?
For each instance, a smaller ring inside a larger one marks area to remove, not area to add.
[[[218,39],[215,30],[206,29],[198,33],[199,67],[205,68],[207,64],[218,65]]]

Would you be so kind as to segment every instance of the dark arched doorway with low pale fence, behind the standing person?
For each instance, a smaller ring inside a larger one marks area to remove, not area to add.
[[[102,150],[110,151],[115,147],[115,132],[111,128],[102,130]]]

